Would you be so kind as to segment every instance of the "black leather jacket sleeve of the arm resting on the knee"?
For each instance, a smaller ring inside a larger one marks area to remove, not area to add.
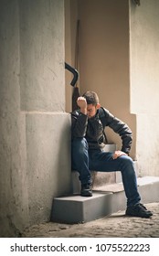
[[[104,109],[106,126],[109,126],[115,133],[118,133],[122,138],[122,152],[129,154],[132,147],[132,131],[126,123],[116,118]]]

